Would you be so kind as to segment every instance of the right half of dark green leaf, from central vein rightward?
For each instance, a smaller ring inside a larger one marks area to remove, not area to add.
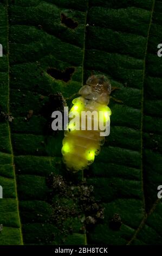
[[[90,2],[86,74],[108,75],[120,87],[113,96],[124,101],[110,104],[111,134],[88,178],[105,205],[105,222],[88,235],[90,243],[161,243],[161,204],[155,204],[162,179],[161,7],[161,1]],[[115,213],[122,221],[118,231],[109,225]]]

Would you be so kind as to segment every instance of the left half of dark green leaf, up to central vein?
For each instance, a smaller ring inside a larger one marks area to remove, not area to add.
[[[0,58],[0,105],[4,113],[10,112],[14,117],[10,127],[7,121],[0,123],[0,184],[3,187],[0,244],[55,245],[65,239],[68,244],[85,244],[79,218],[73,220],[71,217],[69,226],[74,234],[67,237],[61,235],[55,225],[51,206],[54,199],[50,196],[47,178],[51,173],[64,173],[61,162],[63,133],[44,135],[47,119],[42,109],[49,101],[49,94],[59,91],[69,96],[74,88],[75,92],[80,88],[86,14],[77,10],[71,13],[45,1],[4,1],[0,8],[4,51]],[[61,13],[82,24],[76,34],[61,23]],[[71,68],[74,79],[68,83],[54,80],[47,74],[49,68]],[[33,115],[28,119],[31,111]],[[76,176],[80,180],[80,175]],[[68,204],[70,202],[67,207]]]

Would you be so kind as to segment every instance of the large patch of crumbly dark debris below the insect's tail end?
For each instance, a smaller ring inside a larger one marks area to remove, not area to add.
[[[50,189],[49,201],[53,208],[51,221],[62,235],[72,233],[75,228],[73,220],[80,221],[81,233],[92,229],[94,224],[103,220],[104,209],[95,200],[93,186],[89,186],[86,181],[69,182],[62,175],[51,173],[47,185]]]

